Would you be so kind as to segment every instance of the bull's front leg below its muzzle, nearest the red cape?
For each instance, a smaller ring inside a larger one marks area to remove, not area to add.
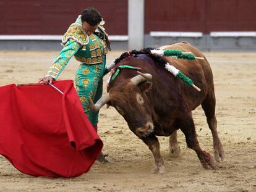
[[[165,166],[160,154],[160,144],[158,138],[156,138],[155,135],[148,135],[147,137],[141,139],[145,144],[147,144],[148,148],[150,149],[155,158],[155,166],[153,167],[151,172],[163,174],[165,171]]]

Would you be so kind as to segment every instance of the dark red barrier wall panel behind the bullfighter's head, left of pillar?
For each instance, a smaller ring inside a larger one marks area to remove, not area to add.
[[[101,12],[110,35],[127,35],[127,0],[0,0],[0,35],[62,35],[86,7]]]

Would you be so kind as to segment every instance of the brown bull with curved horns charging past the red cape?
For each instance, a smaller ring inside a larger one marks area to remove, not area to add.
[[[223,160],[224,151],[217,133],[215,117],[215,89],[210,65],[202,52],[187,42],[163,46],[160,49],[180,49],[192,52],[204,60],[187,61],[173,57],[163,59],[147,52],[123,54],[117,59],[114,69],[120,65],[138,67],[140,70],[121,69],[101,99],[90,105],[99,110],[104,104],[113,106],[124,117],[130,130],[135,133],[153,153],[155,165],[153,173],[164,173],[164,161],[160,154],[160,143],[156,136],[169,136],[169,147],[174,155],[180,152],[176,130],[181,129],[187,146],[193,149],[205,169],[215,169],[213,157],[203,151],[198,143],[192,111],[202,106],[208,127],[213,136],[214,157]],[[164,69],[160,62],[169,62],[190,77],[201,91],[184,84]],[[139,74],[138,74],[139,73]]]

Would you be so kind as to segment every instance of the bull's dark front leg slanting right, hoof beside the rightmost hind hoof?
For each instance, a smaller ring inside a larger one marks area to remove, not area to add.
[[[195,134],[195,125],[194,121],[192,119],[192,115],[190,114],[190,117],[187,117],[187,119],[180,119],[177,120],[177,126],[181,128],[181,131],[186,136],[186,143],[189,148],[193,149],[198,156],[198,159],[200,160],[201,164],[205,169],[215,169],[215,163],[213,160],[213,157],[206,152],[202,151],[202,149],[199,146],[197,136]]]

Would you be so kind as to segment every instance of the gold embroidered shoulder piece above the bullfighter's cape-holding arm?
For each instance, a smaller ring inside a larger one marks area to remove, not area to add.
[[[88,35],[83,30],[82,25],[79,25],[78,23],[72,23],[72,25],[70,25],[69,29],[62,38],[61,44],[64,46],[70,38],[77,41],[77,43],[80,43],[81,45],[85,45],[89,41]]]

